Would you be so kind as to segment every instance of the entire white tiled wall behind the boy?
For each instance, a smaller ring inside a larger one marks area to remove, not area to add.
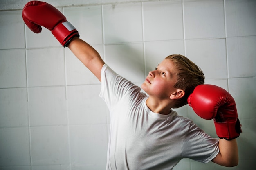
[[[0,4],[0,170],[103,170],[109,116],[100,83],[50,31],[25,26],[26,2]],[[183,54],[202,68],[206,83],[231,93],[243,125],[239,165],[183,159],[174,170],[255,168],[256,0],[47,2],[137,85],[164,57]],[[177,111],[216,137],[212,120],[188,106]]]

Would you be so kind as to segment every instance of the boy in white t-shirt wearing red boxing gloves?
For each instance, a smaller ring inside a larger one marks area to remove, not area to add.
[[[222,107],[226,101],[221,101],[221,105],[213,101],[213,96],[219,96],[222,89],[202,86],[204,74],[189,59],[182,55],[166,57],[141,85],[146,95],[111,70],[94,48],[79,39],[78,31],[56,8],[31,1],[25,5],[22,17],[35,33],[40,33],[41,26],[51,30],[101,81],[100,96],[108,105],[111,118],[106,169],[170,170],[183,158],[213,161],[222,166],[238,164],[235,138],[240,131],[234,127],[240,124],[234,101],[226,92],[232,109]],[[208,100],[212,100],[210,106]],[[210,137],[191,120],[171,110],[188,101],[202,118],[214,118],[217,135],[224,139]],[[215,107],[216,113],[208,111]]]

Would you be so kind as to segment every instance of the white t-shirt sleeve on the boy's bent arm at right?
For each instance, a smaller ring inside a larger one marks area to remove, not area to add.
[[[208,163],[219,153],[219,139],[212,138],[191,121],[182,146],[182,157]]]

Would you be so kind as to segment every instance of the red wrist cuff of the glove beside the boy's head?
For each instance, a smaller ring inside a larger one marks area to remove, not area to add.
[[[220,139],[231,140],[239,137],[241,131],[240,121],[237,118],[233,122],[216,122],[214,120],[216,134]]]

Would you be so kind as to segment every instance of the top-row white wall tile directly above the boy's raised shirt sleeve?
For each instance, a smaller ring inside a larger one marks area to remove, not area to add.
[[[141,3],[103,6],[106,44],[142,41]]]

